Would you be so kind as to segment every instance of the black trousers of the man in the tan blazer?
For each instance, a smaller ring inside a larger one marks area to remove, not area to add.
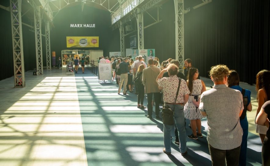
[[[152,116],[153,114],[153,107],[152,107],[152,97],[154,94],[154,100],[155,100],[155,114],[159,115],[159,103],[160,103],[160,93],[155,92],[155,93],[147,93],[147,110],[148,110],[148,115]]]

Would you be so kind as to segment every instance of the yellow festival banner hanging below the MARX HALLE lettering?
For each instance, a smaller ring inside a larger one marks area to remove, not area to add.
[[[98,47],[98,36],[67,36],[67,47]]]

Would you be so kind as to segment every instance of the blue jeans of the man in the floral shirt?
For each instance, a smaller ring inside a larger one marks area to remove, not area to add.
[[[173,104],[166,104],[173,110]],[[185,153],[187,151],[187,141],[186,141],[186,129],[185,129],[185,117],[184,117],[184,106],[183,105],[175,105],[174,108],[174,122],[176,124],[179,136],[179,147],[180,152]],[[174,125],[163,124],[164,126],[164,146],[166,152],[171,152],[171,129]]]

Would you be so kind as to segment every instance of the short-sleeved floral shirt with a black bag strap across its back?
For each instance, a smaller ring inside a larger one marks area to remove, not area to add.
[[[158,79],[159,86],[163,87],[163,100],[164,103],[174,103],[179,84],[179,78],[174,75],[170,77],[163,77]],[[189,94],[187,82],[181,79],[179,93],[176,103],[184,103],[184,95]]]

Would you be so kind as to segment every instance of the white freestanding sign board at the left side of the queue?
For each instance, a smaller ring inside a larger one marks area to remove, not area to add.
[[[98,79],[111,80],[111,63],[98,63]]]

